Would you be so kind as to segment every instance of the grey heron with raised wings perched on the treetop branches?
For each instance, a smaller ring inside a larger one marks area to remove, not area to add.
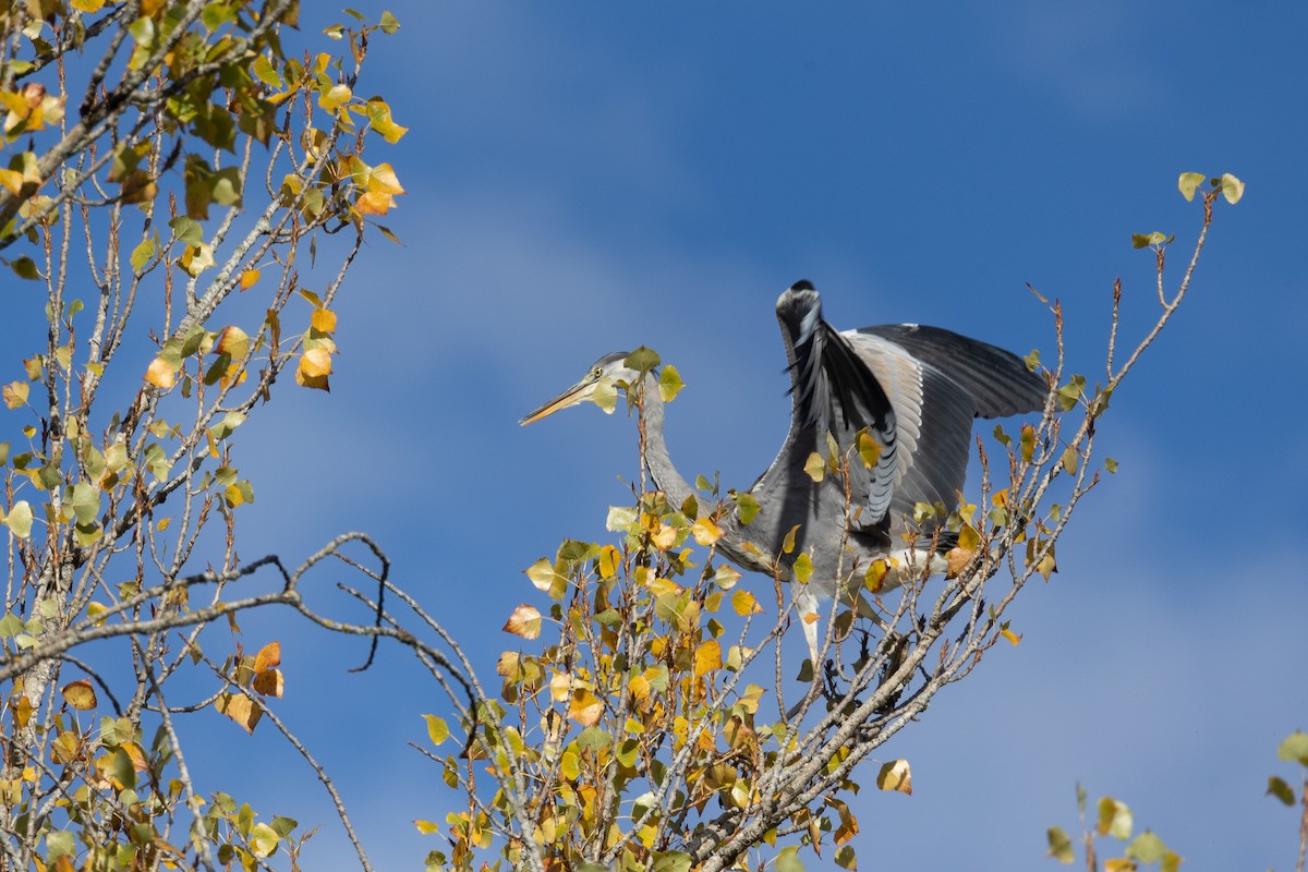
[[[740,569],[783,580],[794,580],[795,561],[808,556],[810,580],[795,599],[816,668],[816,596],[844,584],[857,588],[865,578],[874,590],[889,590],[923,571],[943,571],[943,553],[954,544],[942,529],[944,516],[914,523],[914,509],[959,505],[973,418],[1037,412],[1049,387],[1016,354],[938,327],[837,331],[823,320],[821,299],[807,281],[781,294],[777,320],[789,361],[790,431],[747,492],[757,515],[746,524],[739,507],[729,512],[717,546]],[[577,384],[519,424],[583,403],[606,380],[632,390],[644,378],[649,472],[681,506],[695,489],[663,441],[657,375],[642,375],[627,358],[627,352],[599,358]],[[819,477],[812,456],[829,456],[828,434],[852,460],[841,475]],[[875,447],[855,454],[869,439]]]

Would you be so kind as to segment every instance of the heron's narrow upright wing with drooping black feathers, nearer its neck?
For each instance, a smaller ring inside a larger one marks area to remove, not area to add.
[[[827,455],[825,434],[848,454],[852,526],[884,528],[896,484],[896,409],[867,363],[846,336],[823,320],[821,301],[807,281],[790,286],[777,301],[786,356],[790,361],[790,437],[782,451],[806,447]],[[857,452],[866,430],[880,452],[869,468]],[[833,488],[844,484],[833,481]]]

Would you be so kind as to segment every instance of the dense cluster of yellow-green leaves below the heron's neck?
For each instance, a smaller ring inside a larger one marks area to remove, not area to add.
[[[557,642],[500,656],[500,698],[462,724],[462,750],[442,758],[446,783],[472,803],[447,816],[451,850],[433,851],[430,868],[472,868],[476,851],[525,814],[547,864],[688,869],[725,820],[752,820],[795,788],[799,722],[752,680],[761,647],[747,637],[764,604],[715,560],[725,510],[688,514],[646,492],[636,506],[610,509],[616,544],[565,541],[527,570],[549,611],[519,605],[504,629],[534,641],[552,628]],[[702,565],[696,545],[708,549]],[[774,643],[781,626],[765,622]],[[433,743],[450,739],[443,719],[429,715],[428,726]],[[777,868],[802,868],[800,847],[821,855],[824,843],[837,865],[855,867],[849,800],[859,787],[841,774],[845,757],[825,761],[832,783],[811,807],[760,834]],[[521,783],[521,800],[501,791],[477,801],[480,767]],[[906,763],[887,766],[880,783],[910,792]],[[521,843],[501,847],[523,865]]]

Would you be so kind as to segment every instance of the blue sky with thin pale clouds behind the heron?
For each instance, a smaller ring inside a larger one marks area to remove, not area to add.
[[[1121,472],[1014,608],[1022,645],[883,749],[912,761],[914,795],[865,791],[855,846],[879,868],[1052,867],[1044,831],[1075,825],[1080,780],[1185,868],[1291,867],[1295,821],[1262,794],[1277,743],[1308,727],[1308,8],[392,10],[403,27],[374,42],[362,89],[411,128],[387,153],[404,244],[378,238],[351,273],[332,394],[281,384],[242,430],[245,557],[297,562],[369,531],[492,675],[508,612],[539,599],[522,570],[603,537],[636,472],[620,416],[517,426],[590,361],[644,343],[676,363],[680,468],[748,485],[789,418],[785,286],[814,281],[837,327],[933,323],[1048,357],[1031,282],[1063,302],[1093,380],[1114,276],[1124,341],[1156,306],[1129,234],[1177,233],[1179,261],[1199,214],[1177,174],[1235,173],[1245,199],[1219,204],[1192,297],[1104,421]],[[283,639],[279,710],[337,774],[374,862],[417,864],[434,845],[409,821],[442,818],[447,794],[404,743],[441,711],[436,688],[396,648],[347,675],[361,646],[284,613],[242,626],[251,647]],[[310,858],[331,865],[343,839],[311,773],[213,726],[192,767],[323,821]]]

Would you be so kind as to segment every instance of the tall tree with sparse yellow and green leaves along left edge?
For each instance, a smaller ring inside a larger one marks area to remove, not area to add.
[[[297,55],[300,14],[0,4],[0,263],[44,292],[0,420],[7,868],[296,863],[294,821],[192,783],[181,720],[272,718],[275,643],[205,654],[211,622],[238,633],[239,609],[302,607],[285,571],[281,591],[228,595],[276,562],[237,558],[255,494],[238,429],[286,367],[328,388],[335,295],[365,233],[394,238],[375,221],[404,193],[373,152],[405,128],[356,93],[369,39],[398,21],[351,12],[319,37],[340,51]]]

